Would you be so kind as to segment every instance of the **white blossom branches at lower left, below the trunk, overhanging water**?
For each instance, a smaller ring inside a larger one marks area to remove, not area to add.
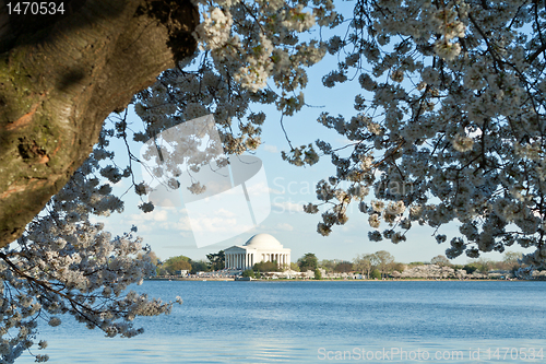
[[[143,332],[132,325],[136,316],[171,309],[170,302],[128,292],[130,284],[142,284],[155,273],[153,254],[133,235],[136,227],[114,237],[102,223],[90,222],[90,214],[108,215],[123,207],[109,185],[120,176],[109,175],[109,183],[100,184],[95,174],[105,168],[95,155],[103,155],[100,149],[28,224],[23,236],[0,251],[2,363],[13,363],[33,347],[40,321],[58,326],[67,314],[107,337],[130,338]],[[38,349],[46,347],[40,340]],[[48,360],[48,355],[35,356],[37,362]]]

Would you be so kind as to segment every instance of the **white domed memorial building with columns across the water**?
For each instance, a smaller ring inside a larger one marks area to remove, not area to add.
[[[290,265],[290,249],[283,248],[270,234],[257,234],[245,245],[234,245],[224,250],[226,268],[249,269],[261,261],[276,261],[280,267]]]

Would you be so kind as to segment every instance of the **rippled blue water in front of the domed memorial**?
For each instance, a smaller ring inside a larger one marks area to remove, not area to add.
[[[546,282],[146,281],[183,298],[107,339],[66,319],[38,338],[51,363],[544,363]],[[25,355],[17,363],[32,363]]]

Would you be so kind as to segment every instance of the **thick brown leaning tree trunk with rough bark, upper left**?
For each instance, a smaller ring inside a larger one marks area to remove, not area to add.
[[[189,0],[56,2],[64,14],[23,16],[0,0],[0,247],[88,156],[105,118],[195,50]]]

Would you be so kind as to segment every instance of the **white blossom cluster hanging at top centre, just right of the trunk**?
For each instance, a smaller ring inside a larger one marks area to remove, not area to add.
[[[201,56],[164,72],[136,96],[135,111],[146,130],[135,140],[212,114],[226,153],[256,150],[265,115],[251,111],[250,103],[275,103],[285,115],[299,110],[304,95],[295,92],[307,85],[305,68],[327,52],[324,42],[301,35],[317,24],[335,26],[342,17],[332,0],[194,3],[202,14],[194,32]],[[269,79],[275,90],[266,87]]]

